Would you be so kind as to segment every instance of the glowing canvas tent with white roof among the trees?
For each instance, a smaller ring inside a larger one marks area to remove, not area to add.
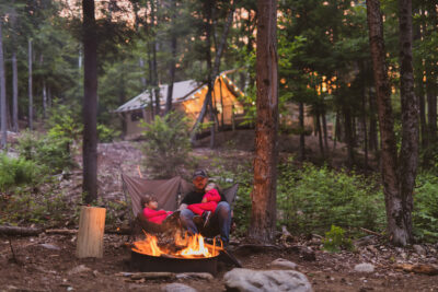
[[[164,112],[165,98],[168,96],[168,84],[160,85],[160,110]],[[199,115],[204,100],[207,95],[208,85],[200,84],[194,80],[173,83],[172,108],[185,113],[193,121]],[[237,118],[243,116],[243,105],[238,97],[243,93],[222,72],[215,81],[212,102],[217,109],[219,125],[231,126]],[[119,114],[126,122],[126,138],[137,138],[143,130],[141,120],[152,120],[151,102],[155,101],[154,92],[145,91],[129,102],[119,106],[115,113]]]

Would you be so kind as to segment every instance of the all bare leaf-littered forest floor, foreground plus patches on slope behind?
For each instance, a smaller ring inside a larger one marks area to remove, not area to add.
[[[196,148],[193,155],[198,156],[200,166],[212,165],[212,159],[220,159],[227,166],[251,162],[253,153],[244,133],[240,140],[222,137],[221,147],[216,150]],[[227,141],[227,142],[226,142]],[[234,141],[234,142],[233,142]],[[204,143],[207,143],[205,140]],[[293,151],[287,148],[297,145],[293,141],[285,144],[283,157]],[[124,200],[120,171],[138,175],[137,165],[141,152],[137,142],[115,142],[99,145],[100,196],[105,200]],[[239,145],[239,147],[237,147]],[[245,148],[246,145],[246,148]],[[204,144],[205,147],[205,144]],[[345,150],[338,145],[338,160],[342,166]],[[318,153],[318,143],[308,153]],[[315,159],[318,160],[318,159]],[[80,164],[80,157],[78,157]],[[188,172],[188,171],[187,171]],[[147,172],[143,172],[147,175]],[[188,173],[187,173],[188,175]],[[66,196],[80,196],[81,172],[73,171],[62,176],[61,188]],[[77,223],[66,222],[65,226],[76,229]],[[124,277],[130,271],[130,250],[126,247],[126,235],[105,234],[104,256],[101,259],[78,259],[74,256],[77,236],[51,235],[18,237],[0,236],[0,291],[160,291],[175,280],[131,280]],[[273,269],[269,264],[284,258],[298,265],[297,270],[304,273],[314,291],[438,291],[438,276],[425,275],[422,267],[436,269],[438,245],[423,244],[406,248],[393,247],[379,235],[368,235],[355,242],[355,252],[327,253],[322,250],[321,237],[286,237],[270,248],[257,249],[241,244],[242,238],[232,237],[231,250],[244,268]],[[372,272],[357,271],[358,264],[371,264]],[[411,265],[411,266],[410,266]],[[418,269],[410,270],[412,265]],[[423,265],[423,266],[420,266]],[[198,291],[224,291],[223,273],[231,266],[220,265],[214,280],[176,280]],[[436,271],[436,270],[435,270]]]

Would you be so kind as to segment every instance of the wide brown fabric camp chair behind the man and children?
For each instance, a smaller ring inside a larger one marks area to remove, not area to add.
[[[131,223],[137,221],[148,233],[163,233],[169,226],[150,222],[141,217],[142,206],[140,201],[145,194],[152,192],[158,199],[160,209],[176,210],[182,200],[182,196],[194,188],[193,184],[187,183],[180,176],[170,179],[147,179],[122,174],[122,183],[125,196],[129,195],[131,200],[131,208],[135,217],[134,220],[130,220]],[[231,207],[233,206],[238,188],[239,184],[234,184],[230,188],[223,190],[223,195]],[[200,232],[204,233],[203,229],[200,229]],[[211,233],[203,235],[211,236]]]

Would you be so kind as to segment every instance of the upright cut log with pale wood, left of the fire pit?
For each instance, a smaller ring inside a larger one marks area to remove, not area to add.
[[[105,229],[105,208],[82,207],[79,217],[78,258],[103,256],[103,233]]]

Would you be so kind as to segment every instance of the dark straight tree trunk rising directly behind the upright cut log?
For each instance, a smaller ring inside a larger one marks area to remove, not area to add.
[[[88,203],[97,199],[97,42],[94,0],[82,0],[83,10],[83,185]]]

